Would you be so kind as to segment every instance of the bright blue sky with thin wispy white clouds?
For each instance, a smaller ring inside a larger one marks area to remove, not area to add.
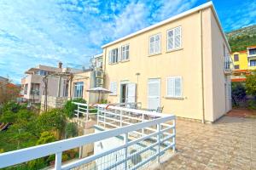
[[[207,0],[0,0],[0,76],[28,68],[88,66],[101,46]],[[256,24],[253,0],[213,0],[224,31]]]

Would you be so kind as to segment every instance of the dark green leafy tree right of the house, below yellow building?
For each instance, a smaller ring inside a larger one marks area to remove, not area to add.
[[[239,105],[239,102],[241,102],[243,99],[246,98],[246,90],[243,84],[241,82],[233,82],[232,83],[232,100],[234,105]]]

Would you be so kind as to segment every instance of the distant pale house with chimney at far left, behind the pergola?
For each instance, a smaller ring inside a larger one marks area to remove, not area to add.
[[[47,75],[55,73],[61,73],[65,69],[62,69],[62,63],[59,63],[58,67],[52,67],[47,65],[38,65],[37,67],[30,68],[26,71],[26,77],[21,79],[21,89],[24,99],[39,103],[41,96],[44,92],[43,79]],[[59,77],[48,77],[48,89],[47,94],[53,97],[67,97],[68,96],[68,81],[67,79],[61,79],[61,86],[59,89]]]

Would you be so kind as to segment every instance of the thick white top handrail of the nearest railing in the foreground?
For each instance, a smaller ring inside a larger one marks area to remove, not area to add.
[[[33,147],[22,149],[22,150],[9,151],[9,152],[0,154],[0,168],[9,167],[25,161],[31,161],[40,157],[55,154],[55,161],[58,163],[58,165],[55,166],[55,169],[61,169],[60,157],[61,157],[61,153],[65,150],[78,148],[84,144],[91,144],[96,141],[109,139],[124,133],[130,133],[133,131],[137,131],[138,129],[151,127],[153,125],[169,122],[172,120],[175,121],[175,116],[173,115],[163,116],[160,118],[156,118],[152,121],[140,122],[140,123],[125,126],[125,127],[119,127],[112,130],[103,131],[101,133],[93,133],[89,135],[79,136],[73,139],[64,139],[64,140],[56,141],[49,144],[33,146]],[[88,159],[89,158],[90,157],[88,157]],[[73,164],[75,163],[76,161],[73,162]]]

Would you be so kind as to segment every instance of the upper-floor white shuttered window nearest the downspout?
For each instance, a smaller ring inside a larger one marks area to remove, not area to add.
[[[167,51],[181,48],[181,26],[167,31]]]

